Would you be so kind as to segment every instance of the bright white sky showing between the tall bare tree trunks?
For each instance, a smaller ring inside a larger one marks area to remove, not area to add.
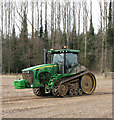
[[[5,1],[9,1],[9,0],[3,0],[3,2],[5,2]],[[10,1],[15,1],[16,2],[16,6],[17,6],[17,8],[18,8],[18,5],[20,5],[20,4],[22,4],[21,2],[26,2],[27,0],[10,0]],[[30,3],[31,1],[34,1],[34,2],[36,2],[37,0],[29,0],[28,2]],[[43,1],[43,2],[45,2],[45,0],[38,0],[39,2],[41,2],[41,1]],[[57,1],[57,0],[56,0]],[[66,1],[66,0],[60,0],[60,2],[64,2],[64,1]],[[72,2],[75,2],[75,3],[77,3],[77,2],[81,2],[81,0],[70,0],[70,2],[71,2],[71,5],[72,5]],[[83,0],[82,0],[83,1]],[[90,10],[90,0],[86,0],[87,1],[87,7],[88,7],[88,10]],[[93,27],[94,27],[94,31],[95,31],[95,33],[97,33],[98,32],[98,30],[99,30],[99,28],[100,28],[100,8],[99,8],[99,1],[102,1],[102,3],[103,3],[103,1],[104,0],[92,0],[92,21],[93,21]],[[108,1],[108,0],[105,0],[105,1]],[[47,2],[48,2],[48,11],[47,11],[47,14],[48,14],[48,29],[49,29],[49,31],[50,31],[50,24],[51,24],[51,0],[47,0]],[[108,1],[109,2],[109,1]],[[76,4],[77,5],[77,4]],[[40,6],[40,3],[39,3],[39,6]],[[102,5],[103,6],[103,5]],[[77,7],[77,6],[76,6]],[[44,26],[44,21],[45,21],[45,4],[43,4],[43,10],[42,10],[42,12],[43,12],[43,26]],[[20,8],[19,8],[20,9]],[[40,11],[39,11],[40,12]],[[31,18],[31,16],[32,16],[32,14],[31,14],[32,12],[31,12],[31,5],[29,4],[29,6],[28,6],[28,14],[27,14],[27,17],[28,17],[28,20],[31,22],[31,20],[32,20],[32,18]],[[34,17],[34,26],[36,27],[37,26],[37,24],[36,24],[36,21],[37,21],[37,16],[36,16],[36,14],[35,14],[35,12],[34,12],[34,15],[35,15],[35,17]],[[77,14],[76,14],[77,15]],[[16,14],[15,15],[16,16],[16,18],[15,18],[15,20],[16,20],[16,23],[19,25],[19,26],[21,26],[21,23],[19,22],[20,20],[21,20],[21,18],[20,18],[20,16],[18,15],[18,14]],[[90,17],[89,17],[90,18]],[[5,19],[5,16],[4,16],[4,19]],[[30,24],[30,22],[28,22],[28,33],[29,34],[31,34],[31,24]],[[73,23],[73,21],[72,21],[72,23]],[[71,23],[71,24],[72,24]],[[76,23],[78,24],[78,19],[76,19]],[[4,24],[5,24],[5,22],[4,22]],[[89,30],[89,19],[88,19],[88,30]],[[40,24],[39,24],[40,25]],[[78,26],[78,25],[77,25]],[[61,22],[61,29],[63,28],[63,24],[62,24],[62,22]],[[78,28],[77,28],[78,29]],[[83,17],[82,17],[82,13],[81,13],[81,32],[83,31]],[[51,31],[50,31],[51,32]],[[18,34],[19,33],[19,28],[16,26],[16,33]]]

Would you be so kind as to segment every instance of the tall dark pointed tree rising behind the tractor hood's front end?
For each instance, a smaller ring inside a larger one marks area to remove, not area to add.
[[[23,10],[23,17],[22,17],[22,28],[20,33],[20,42],[19,42],[19,54],[21,55],[21,69],[29,66],[28,60],[28,50],[29,50],[29,42],[28,42],[28,29],[27,29],[27,14],[26,14],[26,7]]]

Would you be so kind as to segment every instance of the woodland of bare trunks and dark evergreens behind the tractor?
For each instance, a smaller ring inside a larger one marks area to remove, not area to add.
[[[23,68],[43,64],[44,48],[61,49],[64,45],[68,49],[79,49],[80,62],[89,70],[95,73],[114,71],[114,1],[98,0],[98,3],[100,26],[95,33],[92,0],[89,8],[87,0],[1,2],[3,74],[20,73]],[[49,6],[50,19],[47,14]]]

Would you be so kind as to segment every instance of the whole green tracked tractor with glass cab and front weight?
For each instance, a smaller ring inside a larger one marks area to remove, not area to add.
[[[96,87],[93,73],[78,62],[80,50],[51,49],[44,52],[44,64],[22,70],[23,79],[14,81],[16,89],[33,88],[36,96],[91,94]],[[47,64],[47,54],[50,62]]]

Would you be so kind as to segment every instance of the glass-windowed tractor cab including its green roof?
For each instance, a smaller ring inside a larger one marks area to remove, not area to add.
[[[79,65],[78,53],[80,50],[53,50],[49,51],[51,57],[50,62],[57,65],[57,73],[65,74],[73,72],[73,69]]]

